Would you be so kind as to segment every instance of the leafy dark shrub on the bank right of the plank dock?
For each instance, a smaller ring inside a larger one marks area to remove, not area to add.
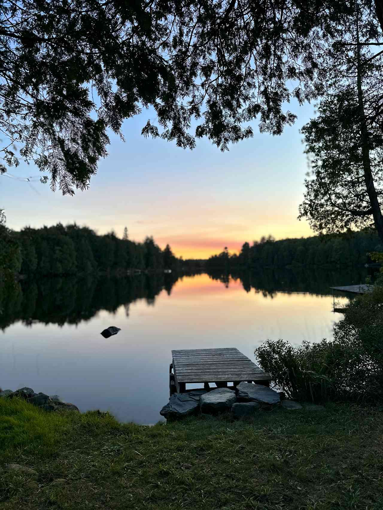
[[[383,401],[383,287],[350,301],[334,340],[267,340],[255,350],[277,389],[298,400]]]

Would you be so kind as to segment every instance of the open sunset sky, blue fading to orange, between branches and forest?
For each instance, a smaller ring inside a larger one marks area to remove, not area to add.
[[[313,235],[297,215],[307,171],[299,129],[314,107],[292,104],[290,110],[298,120],[281,136],[260,134],[254,123],[254,137],[225,153],[206,139],[190,151],[143,138],[142,126],[148,118],[155,120],[145,110],[124,123],[125,143],[110,136],[109,156],[100,162],[89,190],[62,196],[39,182],[33,189],[1,176],[0,207],[15,230],[76,221],[99,234],[113,229],[122,237],[126,225],[130,239],[152,235],[183,258],[207,258],[224,246],[234,252],[262,235]],[[9,171],[20,177],[39,174],[26,164]]]

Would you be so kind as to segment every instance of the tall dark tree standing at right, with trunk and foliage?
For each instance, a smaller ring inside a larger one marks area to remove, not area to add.
[[[383,55],[363,45],[359,25],[356,18],[349,29],[355,44],[334,52],[319,115],[302,129],[314,178],[305,181],[299,218],[327,233],[374,225],[383,243]]]

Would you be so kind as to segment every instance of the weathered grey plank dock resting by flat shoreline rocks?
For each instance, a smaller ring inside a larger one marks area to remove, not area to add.
[[[228,382],[236,386],[242,381],[269,386],[271,376],[234,347],[222,349],[172,350],[170,365],[170,394],[184,393],[187,383],[209,382],[225,388]],[[172,373],[173,369],[173,373]]]

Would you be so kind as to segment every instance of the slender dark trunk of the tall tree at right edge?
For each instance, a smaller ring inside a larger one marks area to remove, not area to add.
[[[380,2],[381,4],[381,2]],[[356,20],[356,52],[357,52],[357,95],[358,105],[360,108],[360,121],[361,121],[361,142],[362,142],[362,160],[363,160],[363,171],[364,179],[366,184],[366,190],[370,199],[372,216],[374,218],[374,224],[378,233],[380,241],[383,243],[383,216],[381,214],[378,196],[376,193],[374,179],[371,172],[370,162],[370,149],[369,149],[369,134],[366,124],[366,115],[363,101],[363,89],[362,89],[362,65],[361,65],[361,46],[359,44],[359,23]]]

